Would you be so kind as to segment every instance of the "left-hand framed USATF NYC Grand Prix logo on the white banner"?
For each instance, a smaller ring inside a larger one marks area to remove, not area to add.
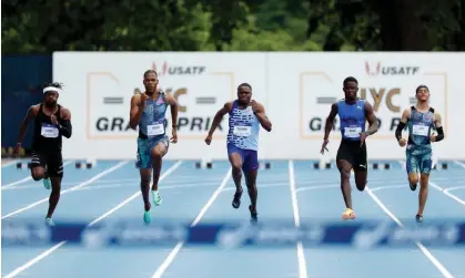
[[[216,111],[234,96],[233,72],[214,72],[205,65],[179,65],[166,61],[161,65],[153,62],[152,69],[159,74],[159,89],[178,102],[179,137],[203,138]],[[88,82],[89,138],[134,138],[138,131],[129,126],[130,103],[133,94],[144,91],[142,81],[95,73]],[[171,133],[170,106],[165,119],[166,133]],[[216,134],[225,134],[224,123],[220,124]]]

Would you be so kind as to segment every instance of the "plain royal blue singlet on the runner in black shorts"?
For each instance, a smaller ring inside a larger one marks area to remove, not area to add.
[[[360,134],[365,132],[365,101],[357,99],[354,104],[337,102],[337,114],[341,121],[341,135],[345,141],[360,141]]]

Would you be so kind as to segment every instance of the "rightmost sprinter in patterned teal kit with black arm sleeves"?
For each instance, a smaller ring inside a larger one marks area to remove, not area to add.
[[[442,141],[444,138],[444,130],[441,123],[441,115],[428,105],[428,87],[419,85],[415,94],[417,103],[402,113],[401,123],[395,131],[395,137],[401,147],[407,146],[405,151],[405,166],[412,191],[416,189],[419,174],[419,204],[415,219],[423,222],[423,212],[428,195],[429,174],[433,167],[431,142]],[[402,137],[402,131],[405,126],[408,127],[408,140]],[[437,130],[437,135],[432,135],[433,128]]]

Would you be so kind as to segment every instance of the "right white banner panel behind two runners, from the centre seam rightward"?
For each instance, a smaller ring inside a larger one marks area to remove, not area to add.
[[[458,93],[465,76],[463,53],[270,53],[267,61],[269,97],[273,100],[269,109],[274,113],[287,107],[292,115],[275,125],[275,132],[280,128],[280,136],[286,134],[292,146],[285,152],[290,157],[321,157],[326,117],[331,105],[344,99],[343,81],[347,76],[358,81],[358,97],[373,106],[378,121],[378,132],[366,142],[370,158],[405,158],[405,148],[398,146],[395,130],[403,111],[416,104],[415,90],[421,84],[428,86],[429,105],[441,114],[446,133],[443,142],[433,145],[434,155],[465,156],[464,152],[456,152],[464,134],[461,121],[454,117],[457,103],[465,101]],[[274,101],[277,92],[287,92],[286,104]],[[407,131],[403,135],[406,138]],[[328,145],[332,158],[336,156],[340,138],[336,117]]]

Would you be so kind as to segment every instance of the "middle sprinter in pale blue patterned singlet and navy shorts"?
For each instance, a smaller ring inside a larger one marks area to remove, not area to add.
[[[235,194],[232,202],[234,208],[241,206],[242,196],[242,173],[245,175],[245,184],[247,186],[251,205],[249,210],[251,213],[251,220],[257,222],[256,212],[256,176],[259,169],[259,132],[260,125],[271,131],[272,124],[265,114],[265,109],[262,104],[251,101],[252,86],[247,83],[242,83],[237,86],[237,100],[228,102],[216,112],[210,127],[209,135],[205,143],[210,145],[212,136],[221,120],[225,114],[229,114],[229,131],[228,131],[228,157],[232,166],[232,176],[235,184]]]

